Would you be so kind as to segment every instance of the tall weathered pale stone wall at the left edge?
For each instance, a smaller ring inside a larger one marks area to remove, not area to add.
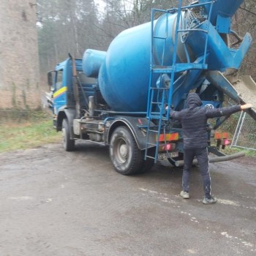
[[[0,109],[37,108],[36,0],[0,1]]]

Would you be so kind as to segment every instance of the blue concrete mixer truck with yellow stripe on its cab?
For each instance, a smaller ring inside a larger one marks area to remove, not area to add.
[[[204,108],[222,107],[225,95],[243,102],[222,75],[240,67],[252,42],[250,34],[241,39],[231,29],[242,2],[183,6],[179,0],[176,8],[152,10],[151,22],[122,31],[106,52],[87,49],[83,59],[57,64],[48,72],[49,102],[64,149],[72,151],[80,140],[109,146],[113,167],[124,175],[143,173],[159,159],[182,165],[181,124],[170,118],[170,108],[186,108],[189,91]],[[216,132],[226,119],[208,124],[208,151],[217,156],[211,162],[241,156],[219,150],[229,143],[227,132]]]

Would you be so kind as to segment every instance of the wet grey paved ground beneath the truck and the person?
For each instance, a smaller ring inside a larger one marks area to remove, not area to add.
[[[197,167],[184,200],[181,169],[121,176],[101,146],[0,154],[0,255],[256,255],[255,166],[211,164],[205,206]]]

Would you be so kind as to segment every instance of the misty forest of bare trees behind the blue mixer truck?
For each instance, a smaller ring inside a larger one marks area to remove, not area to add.
[[[184,0],[183,5],[195,1]],[[108,50],[124,29],[151,20],[151,9],[170,9],[178,0],[37,0],[40,72],[45,75],[68,53],[82,58],[86,49]],[[239,37],[252,35],[252,46],[239,72],[256,80],[256,0],[244,0],[233,16]],[[230,42],[234,40],[230,37]]]

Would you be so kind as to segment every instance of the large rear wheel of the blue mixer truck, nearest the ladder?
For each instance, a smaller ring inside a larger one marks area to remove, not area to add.
[[[140,173],[143,167],[142,152],[127,127],[118,127],[110,138],[110,159],[118,173]]]

